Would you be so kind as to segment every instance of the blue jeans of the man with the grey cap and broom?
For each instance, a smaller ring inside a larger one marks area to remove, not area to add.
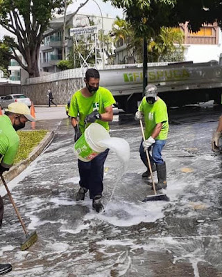
[[[144,152],[143,141],[144,140],[142,139],[142,141],[140,143],[139,154],[140,154],[140,158],[142,159],[144,165],[146,166],[146,168],[148,168],[148,161],[146,158],[146,152]],[[164,147],[165,144],[166,144],[166,140],[160,141],[159,139],[157,139],[155,141],[155,143],[153,143],[153,145],[151,145],[151,147],[148,148],[148,156],[151,160],[151,164],[152,163],[156,163],[156,164],[164,163],[161,152],[162,152],[162,148]],[[152,156],[150,154],[151,148],[152,148]]]

